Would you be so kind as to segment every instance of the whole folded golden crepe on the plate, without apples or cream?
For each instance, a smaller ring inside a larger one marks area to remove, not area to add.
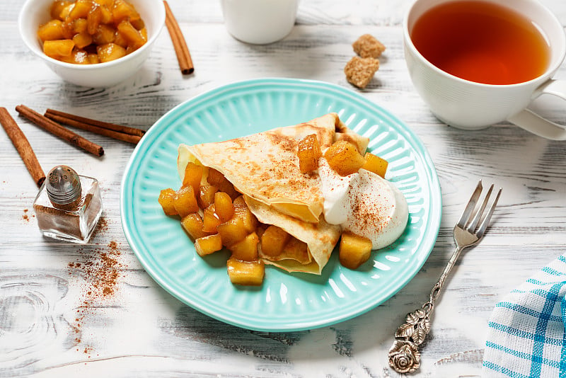
[[[265,132],[227,140],[178,148],[181,180],[192,161],[224,174],[250,211],[264,224],[281,227],[308,246],[308,260],[282,253],[277,259],[263,256],[265,263],[289,272],[320,274],[340,239],[340,226],[323,217],[324,198],[316,172],[301,173],[297,149],[301,139],[316,134],[325,151],[337,140],[345,139],[364,154],[369,139],[350,130],[336,113],[308,122],[277,127]],[[205,181],[205,176],[203,181]]]

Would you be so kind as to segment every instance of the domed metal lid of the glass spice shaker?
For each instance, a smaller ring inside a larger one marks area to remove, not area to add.
[[[81,197],[81,180],[73,168],[56,166],[47,173],[45,189],[51,202],[68,205]]]

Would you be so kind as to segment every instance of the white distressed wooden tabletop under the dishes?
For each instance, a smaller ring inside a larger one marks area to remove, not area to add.
[[[566,143],[507,123],[463,132],[434,118],[403,61],[400,25],[409,0],[302,0],[291,35],[266,46],[231,38],[219,1],[170,0],[195,74],[180,74],[163,29],[141,71],[107,89],[66,84],[25,49],[16,22],[22,3],[0,4],[0,106],[18,121],[46,172],[67,164],[98,178],[105,211],[86,246],[44,239],[33,214],[35,183],[0,132],[0,377],[397,377],[387,362],[393,332],[427,299],[453,251],[452,227],[482,178],[502,186],[500,205],[485,239],[461,256],[447,283],[420,369],[422,377],[476,377],[497,301],[564,251]],[[566,25],[562,0],[543,3]],[[442,188],[441,229],[427,262],[395,296],[311,331],[247,331],[174,299],[146,274],[122,233],[120,180],[134,147],[87,134],[105,148],[102,158],[89,156],[14,109],[55,108],[147,130],[178,103],[242,79],[316,79],[353,88],[342,69],[353,56],[350,44],[364,33],[387,50],[363,96],[397,115],[427,147]],[[558,77],[565,76],[563,65]],[[533,107],[566,124],[563,103],[545,98]],[[115,280],[108,276],[113,271]],[[104,280],[108,295],[100,294]]]

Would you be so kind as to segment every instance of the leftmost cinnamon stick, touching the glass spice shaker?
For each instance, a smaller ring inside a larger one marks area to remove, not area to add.
[[[20,154],[23,164],[28,168],[33,181],[35,181],[37,186],[41,186],[43,181],[45,181],[45,173],[43,173],[40,162],[37,161],[37,156],[35,156],[28,138],[25,137],[25,134],[23,134],[23,131],[18,127],[18,124],[6,108],[0,108],[0,123],[4,127],[6,134],[8,134],[8,138],[16,147],[18,154]]]

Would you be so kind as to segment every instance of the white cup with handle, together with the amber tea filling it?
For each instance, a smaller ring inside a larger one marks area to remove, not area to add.
[[[566,139],[564,127],[527,109],[543,93],[566,100],[566,81],[553,79],[566,35],[538,1],[416,0],[403,47],[413,85],[442,122],[480,130],[507,120]]]

